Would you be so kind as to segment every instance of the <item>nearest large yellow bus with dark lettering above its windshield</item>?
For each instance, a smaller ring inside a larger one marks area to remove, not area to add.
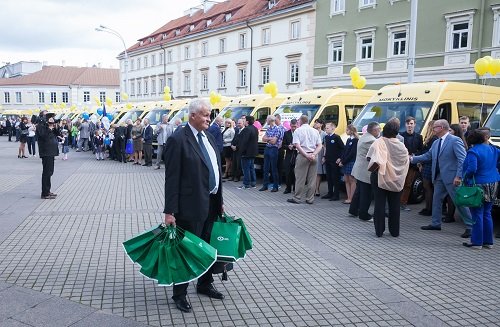
[[[459,82],[427,82],[382,87],[354,120],[361,131],[372,121],[386,123],[393,117],[405,131],[406,117],[416,119],[415,132],[425,135],[430,120],[446,119],[450,124],[469,117],[471,128],[486,120],[500,99],[500,88]]]

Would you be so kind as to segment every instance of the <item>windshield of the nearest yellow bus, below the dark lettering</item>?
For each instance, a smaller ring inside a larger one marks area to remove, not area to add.
[[[356,117],[353,125],[358,131],[361,131],[363,126],[373,121],[386,123],[389,119],[396,117],[401,122],[399,131],[404,132],[406,130],[406,117],[411,116],[416,120],[415,132],[420,133],[427,116],[429,116],[432,105],[433,103],[430,101],[368,103],[358,117]]]

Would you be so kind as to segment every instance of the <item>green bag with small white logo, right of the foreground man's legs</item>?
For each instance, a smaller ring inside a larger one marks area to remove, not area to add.
[[[234,262],[244,257],[240,251],[241,226],[225,221],[216,221],[210,235],[210,245],[217,249],[217,260]]]

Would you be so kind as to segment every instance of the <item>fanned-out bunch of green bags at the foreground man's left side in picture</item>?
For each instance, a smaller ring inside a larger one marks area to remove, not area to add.
[[[188,283],[215,263],[217,250],[196,235],[179,227],[152,228],[123,242],[129,258],[145,277],[161,286]]]

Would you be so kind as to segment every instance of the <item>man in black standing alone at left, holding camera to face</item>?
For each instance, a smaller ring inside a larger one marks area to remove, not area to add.
[[[48,116],[48,118],[47,118]],[[54,174],[54,158],[59,155],[59,131],[53,115],[42,113],[36,126],[38,153],[42,159],[42,199],[55,199],[57,194],[50,192],[50,178]]]

